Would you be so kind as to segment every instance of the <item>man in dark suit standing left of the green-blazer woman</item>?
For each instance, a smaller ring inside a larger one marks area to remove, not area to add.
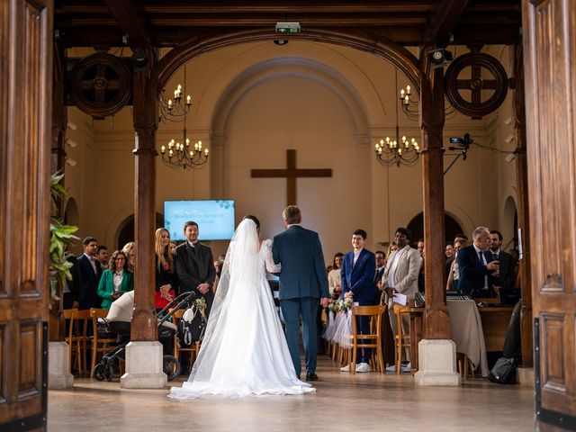
[[[84,254],[76,260],[80,271],[80,302],[79,310],[100,308],[102,298],[98,296],[98,284],[102,277],[102,267],[96,259],[98,240],[94,237],[86,237],[82,241]]]

